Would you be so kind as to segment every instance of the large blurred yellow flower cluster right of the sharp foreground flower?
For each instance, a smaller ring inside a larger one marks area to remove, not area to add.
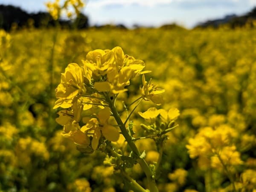
[[[208,167],[224,170],[225,167],[241,165],[243,162],[240,153],[233,145],[238,136],[235,129],[227,125],[202,128],[195,138],[189,139],[186,145],[191,158],[199,157],[198,163],[201,168]]]

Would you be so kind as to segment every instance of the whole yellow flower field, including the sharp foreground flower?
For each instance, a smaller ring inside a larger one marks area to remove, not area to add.
[[[255,114],[255,28],[0,30],[0,192],[256,192]]]

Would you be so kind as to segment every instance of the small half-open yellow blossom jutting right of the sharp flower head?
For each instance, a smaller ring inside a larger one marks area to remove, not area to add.
[[[145,75],[142,76],[143,86],[140,87],[140,94],[142,95],[144,100],[151,100],[157,105],[161,105],[163,103],[163,98],[160,94],[165,92],[164,89],[157,88],[156,85],[151,83],[151,80],[147,82],[145,80]]]

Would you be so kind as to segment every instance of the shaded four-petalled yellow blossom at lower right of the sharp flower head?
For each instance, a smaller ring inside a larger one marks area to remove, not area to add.
[[[92,140],[92,148],[94,150],[96,150],[99,145],[101,135],[110,141],[117,141],[119,139],[118,129],[108,124],[110,114],[111,112],[109,107],[101,109],[97,115],[98,119],[91,118],[88,123],[81,128],[82,132],[94,130]]]

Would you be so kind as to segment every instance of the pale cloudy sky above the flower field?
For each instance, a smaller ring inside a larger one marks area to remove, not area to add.
[[[53,0],[50,0],[53,1]],[[256,0],[84,0],[83,13],[90,25],[134,24],[161,26],[177,23],[192,28],[199,22],[242,15],[256,6]],[[20,6],[29,12],[46,11],[47,0],[0,0],[0,4]]]

